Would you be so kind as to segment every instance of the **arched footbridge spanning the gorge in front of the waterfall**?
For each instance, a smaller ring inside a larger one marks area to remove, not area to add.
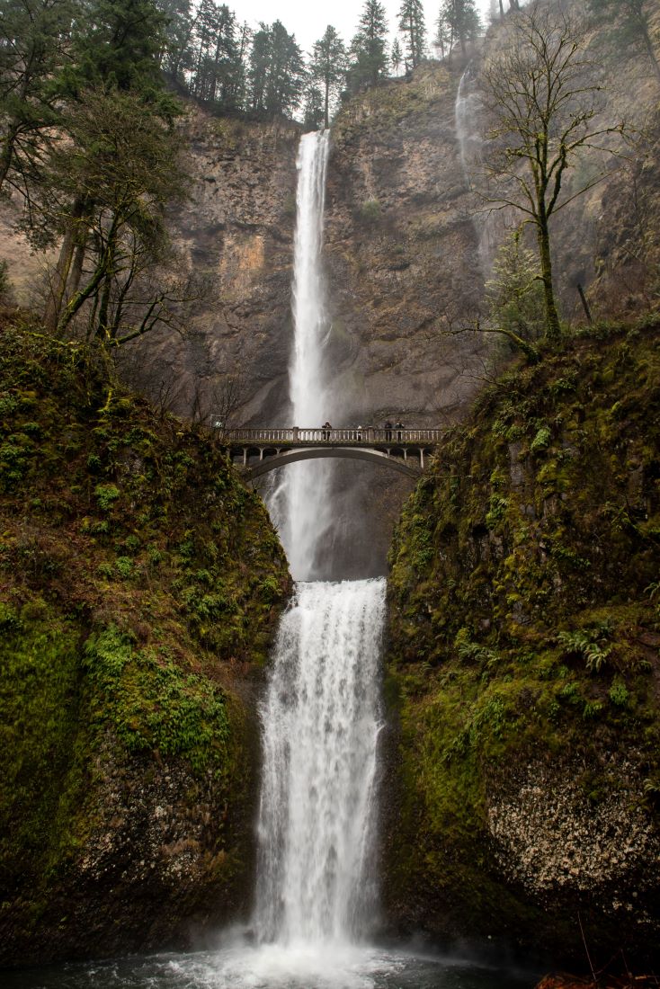
[[[213,420],[230,448],[233,463],[253,481],[277,467],[320,457],[366,460],[418,478],[439,442],[442,429],[225,429]]]

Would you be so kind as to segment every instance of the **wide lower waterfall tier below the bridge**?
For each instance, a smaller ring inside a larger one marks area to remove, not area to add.
[[[350,941],[373,907],[369,854],[385,581],[298,584],[261,707],[257,936]]]

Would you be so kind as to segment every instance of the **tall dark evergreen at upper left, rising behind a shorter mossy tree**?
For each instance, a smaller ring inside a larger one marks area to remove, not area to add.
[[[78,153],[80,160],[84,160],[87,150],[93,150],[96,139],[94,115],[86,118],[84,114],[88,105],[95,107],[99,128],[101,120],[107,120],[115,110],[128,121],[131,115],[121,104],[126,95],[127,100],[133,101],[131,106],[141,107],[141,115],[134,115],[134,126],[140,126],[145,135],[167,134],[180,112],[176,100],[165,89],[159,67],[165,45],[165,17],[154,0],[91,0],[84,13],[86,16],[75,25],[71,62],[61,73],[65,102],[60,109],[60,128],[68,138],[60,143],[71,155]],[[104,100],[110,108],[107,112]],[[80,123],[83,120],[85,127]],[[113,133],[118,140],[115,153],[119,161],[124,148],[119,143],[120,133]],[[134,136],[139,135],[126,134],[127,144]],[[82,141],[89,142],[89,149]],[[136,155],[140,153],[139,146],[134,147]],[[98,235],[96,218],[101,204],[105,203],[106,211],[110,209],[104,186],[112,182],[111,155],[104,159],[109,173],[105,176],[101,169],[91,167],[91,159],[88,174],[71,165],[71,174],[77,176],[76,182],[71,183],[62,173],[68,165],[62,163],[61,153],[61,147],[53,148],[45,162],[47,180],[38,204],[40,225],[31,230],[33,239],[43,234],[60,238],[45,313],[47,326],[52,329],[60,324],[62,313],[68,311],[70,301],[81,291],[85,264],[89,262],[98,273],[98,258],[106,248]],[[141,167],[138,159],[135,167]],[[107,212],[104,223],[113,225]],[[100,281],[88,291],[85,301],[97,289],[101,291]]]

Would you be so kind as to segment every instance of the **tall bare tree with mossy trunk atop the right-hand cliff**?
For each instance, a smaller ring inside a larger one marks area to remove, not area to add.
[[[567,173],[586,148],[604,147],[623,125],[601,126],[602,86],[584,52],[584,30],[561,7],[534,3],[509,20],[506,48],[482,70],[494,127],[489,200],[510,206],[533,225],[543,282],[546,336],[561,333],[550,252],[550,219],[601,181],[605,172],[564,191]]]

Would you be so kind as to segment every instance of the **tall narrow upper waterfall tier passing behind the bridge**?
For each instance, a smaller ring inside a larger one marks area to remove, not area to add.
[[[328,318],[321,261],[329,147],[329,131],[303,135],[297,161],[289,396],[292,424],[307,428],[321,426],[330,415],[328,370],[324,366]],[[318,548],[331,524],[329,490],[329,462],[308,461],[288,467],[269,499],[291,573],[297,580],[314,580],[323,574]]]

